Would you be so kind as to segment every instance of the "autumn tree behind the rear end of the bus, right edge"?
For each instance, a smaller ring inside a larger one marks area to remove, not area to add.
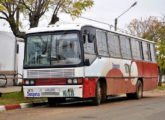
[[[165,17],[149,17],[134,19],[128,25],[127,33],[156,42],[156,53],[159,72],[159,86],[162,85],[162,75],[165,73]]]

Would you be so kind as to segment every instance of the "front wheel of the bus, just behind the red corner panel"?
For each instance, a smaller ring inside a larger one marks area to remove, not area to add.
[[[93,99],[93,105],[98,106],[101,103],[101,98],[102,98],[102,89],[100,82],[98,81],[96,84],[96,97]]]

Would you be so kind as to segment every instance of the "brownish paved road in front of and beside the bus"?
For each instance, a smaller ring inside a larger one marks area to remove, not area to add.
[[[165,120],[165,92],[146,92],[141,100],[110,99],[90,103],[35,107],[0,113],[0,120]]]

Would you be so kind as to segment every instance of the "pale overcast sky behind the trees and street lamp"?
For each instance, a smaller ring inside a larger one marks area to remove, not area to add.
[[[165,0],[94,0],[94,6],[84,12],[82,16],[114,25],[114,19],[127,10],[136,1],[137,5],[118,19],[119,28],[126,29],[126,26],[130,23],[130,21],[135,18],[140,19],[147,18],[149,16],[161,17],[162,15],[165,15]],[[39,26],[47,26],[50,15],[50,13],[45,15]],[[73,21],[69,15],[63,13],[60,13],[59,17],[62,23],[98,24],[81,18]],[[29,25],[27,20],[23,23],[27,29],[27,26]],[[108,27],[107,25],[104,26]],[[0,29],[10,30],[9,25],[2,20],[0,20]]]

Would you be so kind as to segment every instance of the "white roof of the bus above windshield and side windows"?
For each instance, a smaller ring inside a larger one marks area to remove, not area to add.
[[[88,24],[56,24],[56,25],[48,25],[47,27],[31,28],[30,30],[28,30],[26,32],[26,34],[42,33],[42,32],[53,32],[53,31],[65,31],[65,30],[81,30],[81,28],[84,27],[84,26],[91,26],[91,27],[94,27],[94,28],[110,31],[110,32],[113,32],[113,33],[117,33],[117,34],[120,34],[120,35],[131,37],[131,38],[140,39],[140,40],[143,40],[143,41],[154,43],[153,41],[142,39],[142,38],[139,38],[139,37],[136,37],[136,36],[132,36],[132,35],[129,35],[129,34],[124,34],[124,33],[121,33],[121,32],[112,31],[112,30],[109,30],[106,27],[103,28],[103,27],[100,27],[100,26],[97,26],[97,25],[88,25]]]

